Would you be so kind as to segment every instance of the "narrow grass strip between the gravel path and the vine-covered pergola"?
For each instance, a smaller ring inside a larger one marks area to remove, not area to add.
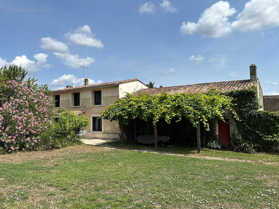
[[[109,142],[105,144],[108,147],[115,147],[119,149],[138,149],[147,151],[157,151],[157,152],[167,152],[175,154],[185,154],[192,157],[213,157],[219,159],[232,159],[232,160],[243,160],[252,162],[265,162],[279,164],[278,153],[268,154],[264,152],[258,152],[254,154],[239,153],[229,150],[216,150],[202,148],[200,153],[197,153],[197,149],[179,146],[169,146],[169,147],[158,147],[157,150],[154,149],[154,145],[143,145],[136,141],[125,141],[125,145],[122,146],[120,141]]]

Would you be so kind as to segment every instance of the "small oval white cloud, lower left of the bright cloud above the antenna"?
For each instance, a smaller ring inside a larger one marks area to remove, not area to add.
[[[47,52],[68,53],[68,45],[50,37],[41,38],[41,48]]]

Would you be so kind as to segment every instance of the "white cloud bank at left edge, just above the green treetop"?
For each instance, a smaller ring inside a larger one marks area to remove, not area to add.
[[[34,74],[42,68],[51,67],[50,64],[46,64],[48,54],[38,53],[34,54],[33,57],[37,60],[37,62],[35,62],[34,60],[29,60],[26,55],[16,56],[11,62],[7,62],[0,57],[0,66],[10,64],[21,65],[22,67],[25,67],[27,69],[28,74]]]

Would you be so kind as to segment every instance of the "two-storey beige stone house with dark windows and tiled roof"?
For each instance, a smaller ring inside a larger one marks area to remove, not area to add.
[[[86,129],[84,138],[119,139],[119,125],[116,121],[102,120],[100,111],[123,97],[127,93],[134,93],[140,89],[148,88],[138,79],[114,81],[101,84],[88,85],[85,79],[84,86],[66,86],[64,89],[53,90],[49,96],[54,102],[53,112],[60,108],[84,114],[90,119],[90,126]]]

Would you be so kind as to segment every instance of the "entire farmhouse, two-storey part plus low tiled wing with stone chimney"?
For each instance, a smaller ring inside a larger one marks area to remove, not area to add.
[[[258,91],[258,98],[260,110],[278,111],[279,110],[279,95],[278,96],[263,96],[260,86],[260,81],[257,77],[257,67],[251,64],[249,67],[250,79],[221,81],[201,84],[191,84],[184,86],[172,86],[162,88],[149,89],[138,79],[129,79],[124,81],[115,81],[102,84],[88,85],[88,79],[85,79],[84,86],[67,86],[65,89],[53,90],[49,96],[51,101],[56,101],[53,111],[56,112],[59,108],[70,109],[76,114],[85,114],[90,118],[90,126],[87,128],[87,134],[84,138],[107,138],[119,139],[119,125],[118,122],[110,122],[99,118],[100,111],[104,111],[112,102],[125,96],[126,92],[132,94],[148,93],[160,94],[163,91],[168,94],[181,93],[195,93],[206,92],[211,88],[216,88],[219,91],[233,91],[238,89],[247,89],[251,86],[256,86]],[[234,120],[225,117],[225,122],[222,120],[216,121],[216,134],[223,139],[227,147],[231,145],[231,137],[236,135]],[[148,130],[144,134],[154,135],[154,126],[150,123]],[[190,127],[191,125],[189,125]],[[195,132],[191,130],[190,132]],[[194,133],[196,134],[196,133]],[[135,134],[137,135],[137,134]]]

